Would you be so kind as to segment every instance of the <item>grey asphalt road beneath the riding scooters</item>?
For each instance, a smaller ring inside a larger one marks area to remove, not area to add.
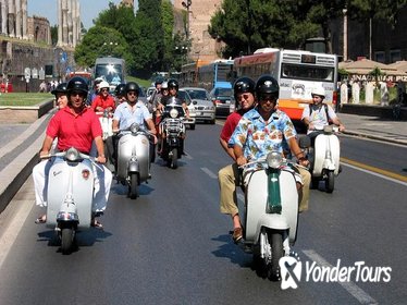
[[[251,256],[231,241],[230,219],[219,212],[217,172],[230,162],[218,142],[220,129],[189,131],[180,168],[158,159],[136,200],[113,185],[104,230],[79,233],[71,255],[59,253],[51,230],[34,224],[41,210],[21,200],[27,218],[0,259],[0,304],[405,303],[407,183],[344,164],[332,194],[312,190],[293,248],[301,259],[301,281],[296,290],[281,290],[256,274]],[[406,152],[342,138],[342,156],[400,174]],[[345,283],[306,281],[306,264],[313,261],[346,268],[365,261],[366,274],[391,267],[391,280],[362,282],[353,273]]]

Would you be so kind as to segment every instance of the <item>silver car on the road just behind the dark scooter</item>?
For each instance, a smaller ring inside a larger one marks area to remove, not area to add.
[[[193,105],[196,111],[196,121],[214,124],[214,105],[210,99],[208,91],[199,87],[184,87],[182,89],[186,90],[193,99]]]

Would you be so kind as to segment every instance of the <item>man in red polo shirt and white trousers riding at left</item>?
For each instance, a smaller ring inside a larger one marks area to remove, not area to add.
[[[57,149],[64,151],[70,147],[75,147],[79,151],[89,155],[92,141],[96,144],[98,162],[104,163],[104,148],[101,138],[101,126],[98,117],[89,110],[86,105],[88,86],[82,77],[75,76],[66,85],[67,107],[58,111],[48,124],[46,137],[39,156],[48,156],[53,139],[58,136]],[[75,127],[73,127],[75,126]],[[47,161],[42,172],[33,171],[34,185],[36,192],[36,203],[39,206],[47,206],[47,179],[48,171],[54,160]],[[92,213],[97,216],[106,209],[109,198],[112,173],[104,167],[96,169],[95,193],[92,200]],[[45,222],[46,219],[38,219],[37,222]],[[101,223],[96,219],[92,225],[101,228]]]

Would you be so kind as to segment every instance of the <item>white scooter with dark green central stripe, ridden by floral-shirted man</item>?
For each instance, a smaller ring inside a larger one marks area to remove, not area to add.
[[[258,274],[279,280],[279,260],[291,255],[291,245],[297,239],[295,175],[279,151],[242,168],[246,196],[244,236],[239,245],[245,252],[252,253]]]

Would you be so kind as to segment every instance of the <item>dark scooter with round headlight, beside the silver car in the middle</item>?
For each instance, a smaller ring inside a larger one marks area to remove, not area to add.
[[[176,169],[177,160],[181,159],[184,148],[185,139],[185,112],[181,105],[166,105],[162,113],[162,121],[160,130],[163,134],[161,143],[161,158],[166,162],[166,166]]]

